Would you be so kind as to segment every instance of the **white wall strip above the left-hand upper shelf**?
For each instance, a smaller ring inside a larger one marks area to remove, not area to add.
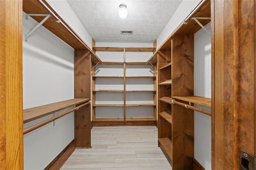
[[[92,48],[92,37],[66,0],[46,0],[59,16]],[[90,23],[88,23],[90,24]]]

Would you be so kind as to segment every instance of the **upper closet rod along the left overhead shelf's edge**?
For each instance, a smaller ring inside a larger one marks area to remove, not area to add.
[[[58,18],[58,16],[56,16],[54,14],[54,12],[52,12],[52,10],[42,0],[38,0],[38,1],[44,6],[44,8],[46,8],[46,10],[48,12],[50,12],[50,14],[56,19],[56,22],[62,24],[62,26],[64,26],[80,43],[82,43],[85,47],[87,47],[87,49],[90,51],[90,53],[94,53],[92,51],[92,49],[90,49],[90,47],[88,47],[88,45],[86,43],[84,43],[83,40],[81,40],[80,37],[78,37],[76,34],[74,34],[74,30],[70,30],[70,28],[68,28],[68,26],[66,26],[66,24],[64,24],[62,22],[62,20],[60,20],[60,18]],[[96,58],[98,58],[98,57],[96,57]],[[98,58],[98,60],[100,61],[100,63],[102,63],[102,61],[99,58]]]

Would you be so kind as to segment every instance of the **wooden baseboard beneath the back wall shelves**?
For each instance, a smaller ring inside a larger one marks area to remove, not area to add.
[[[156,121],[141,122],[93,122],[94,127],[111,127],[111,126],[156,126]]]

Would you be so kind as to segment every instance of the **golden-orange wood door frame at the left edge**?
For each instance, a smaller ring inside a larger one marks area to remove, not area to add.
[[[0,1],[0,23],[0,167],[22,170],[22,0]]]

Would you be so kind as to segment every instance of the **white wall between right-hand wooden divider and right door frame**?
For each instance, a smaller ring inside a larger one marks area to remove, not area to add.
[[[210,32],[210,23],[205,28]],[[211,37],[202,29],[194,34],[194,95],[211,98]],[[211,169],[211,142],[211,117],[195,111],[194,158],[206,170]]]

